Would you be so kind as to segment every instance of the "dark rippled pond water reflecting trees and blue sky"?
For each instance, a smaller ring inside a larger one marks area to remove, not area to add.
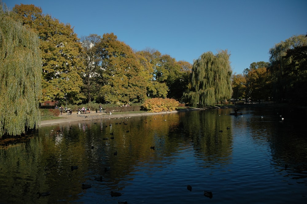
[[[0,147],[0,203],[305,203],[305,117],[268,107],[231,112],[40,127]]]

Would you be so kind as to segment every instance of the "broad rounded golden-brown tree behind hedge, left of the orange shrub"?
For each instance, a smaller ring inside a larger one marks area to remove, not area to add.
[[[123,105],[145,100],[146,72],[130,46],[119,41],[114,33],[103,34],[97,55],[102,59],[102,76],[106,81],[100,90],[105,102]]]

